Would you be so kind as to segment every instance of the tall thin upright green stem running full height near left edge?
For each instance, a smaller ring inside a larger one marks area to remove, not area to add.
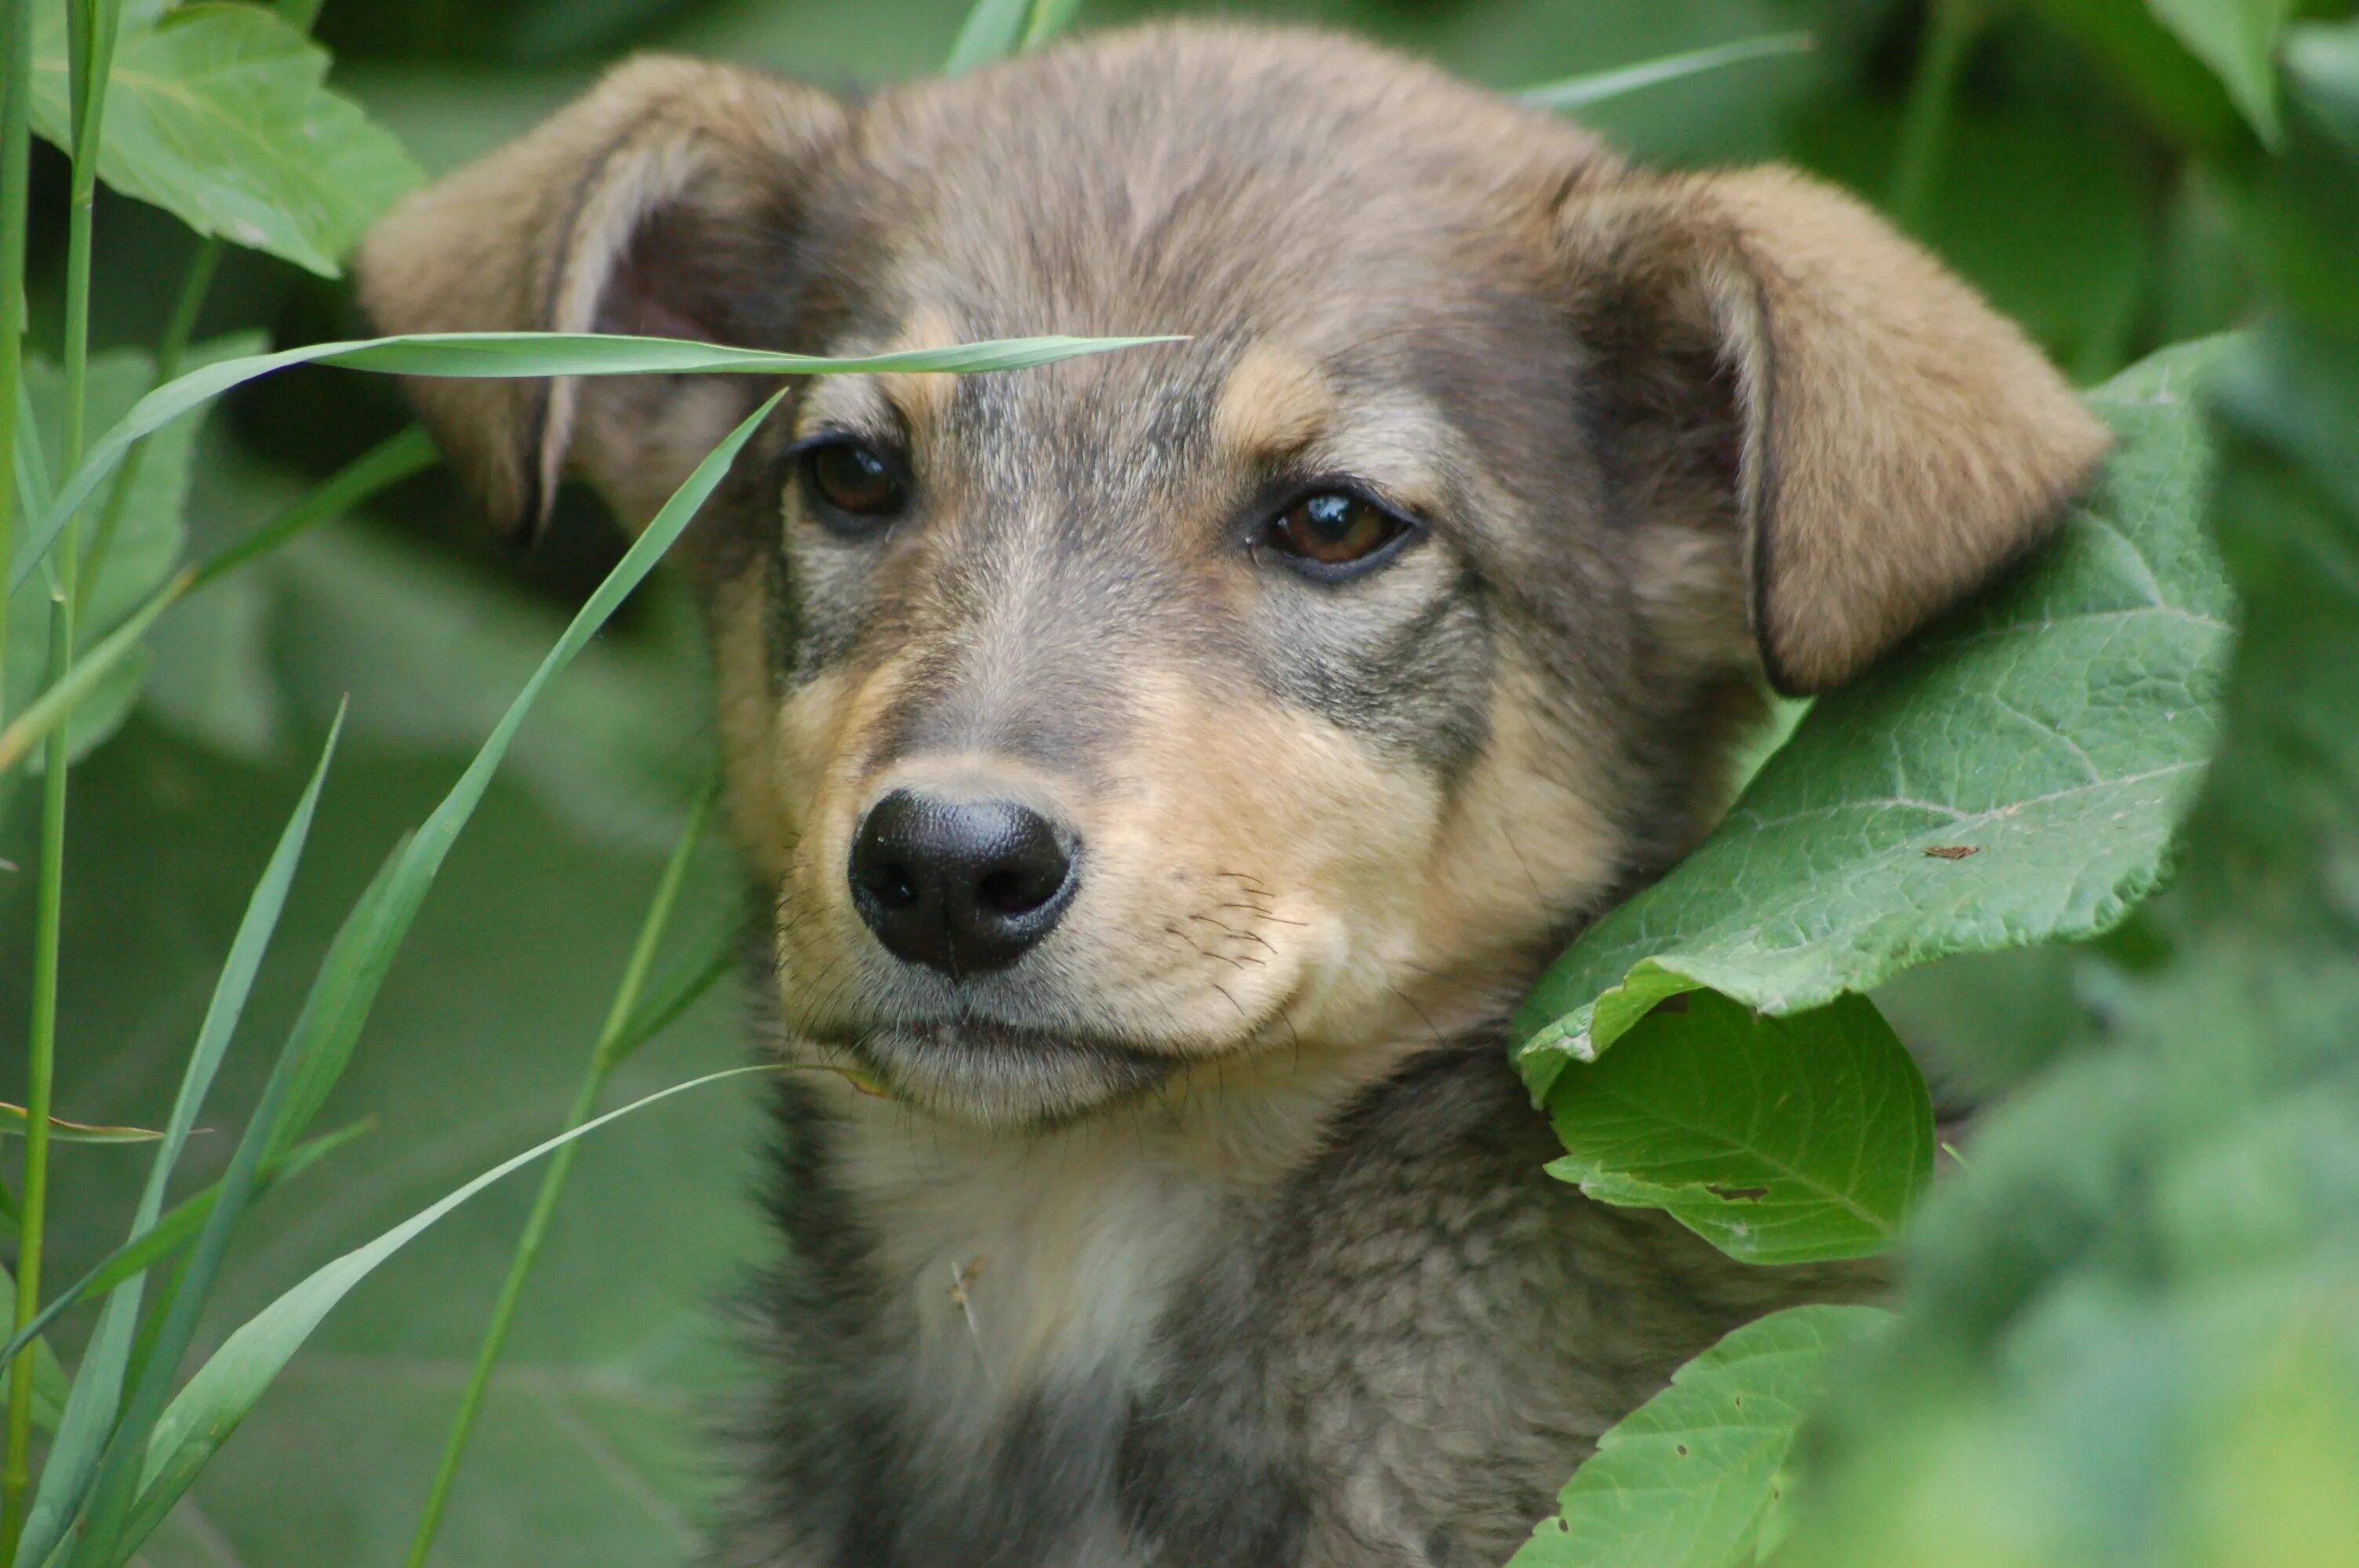
[[[24,12],[26,0],[9,0]],[[66,207],[66,408],[64,472],[83,460],[90,384],[90,226],[99,196],[99,134],[106,123],[106,75],[113,66],[116,0],[73,0],[68,73],[73,99],[73,184]],[[14,406],[5,410],[14,420]],[[50,604],[50,684],[73,670],[73,606],[80,597],[80,528],[68,521],[57,542],[57,599]],[[40,891],[33,922],[33,1028],[26,1042],[24,1240],[17,1254],[17,1313],[40,1309],[40,1243],[50,1191],[50,1089],[57,1066],[57,948],[66,894],[66,773],[73,714],[50,731],[50,766],[40,795]],[[7,1457],[0,1462],[0,1561],[17,1559],[24,1535],[33,1452],[33,1358],[19,1356],[7,1386]]]

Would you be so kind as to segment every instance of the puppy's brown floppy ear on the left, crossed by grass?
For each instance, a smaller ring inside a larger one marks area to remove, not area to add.
[[[771,347],[797,191],[842,104],[755,71],[644,57],[403,200],[359,255],[385,332],[635,332]],[[535,528],[564,472],[642,528],[731,424],[753,377],[410,377],[486,509]]]

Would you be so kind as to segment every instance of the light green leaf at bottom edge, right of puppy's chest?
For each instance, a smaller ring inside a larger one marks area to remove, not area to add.
[[[1892,1313],[1795,1306],[1732,1332],[1597,1438],[1510,1568],[1741,1568],[1767,1554],[1828,1365]]]

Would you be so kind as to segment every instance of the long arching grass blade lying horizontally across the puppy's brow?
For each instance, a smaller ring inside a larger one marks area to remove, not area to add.
[[[677,337],[611,337],[599,332],[427,332],[413,337],[363,337],[351,342],[316,342],[276,354],[224,358],[179,375],[146,394],[132,410],[101,434],[87,457],[73,467],[50,507],[26,533],[9,564],[9,592],[17,592],[40,566],[66,519],[90,500],[123,462],[132,441],[189,413],[205,398],[231,387],[285,370],[288,365],[342,365],[380,375],[455,375],[455,377],[547,377],[547,375],[849,375],[908,370],[932,375],[972,375],[981,370],[1021,370],[1080,354],[1111,354],[1142,344],[1180,342],[1177,337],[1007,337],[948,349],[908,349],[856,358],[814,354],[774,354],[769,349],[727,349]]]

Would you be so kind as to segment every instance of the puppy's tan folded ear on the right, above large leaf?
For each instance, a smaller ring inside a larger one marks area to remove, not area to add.
[[[2015,325],[1800,174],[1576,191],[1555,238],[1604,439],[1720,488],[1779,691],[1859,674],[2036,542],[2104,455]]]

